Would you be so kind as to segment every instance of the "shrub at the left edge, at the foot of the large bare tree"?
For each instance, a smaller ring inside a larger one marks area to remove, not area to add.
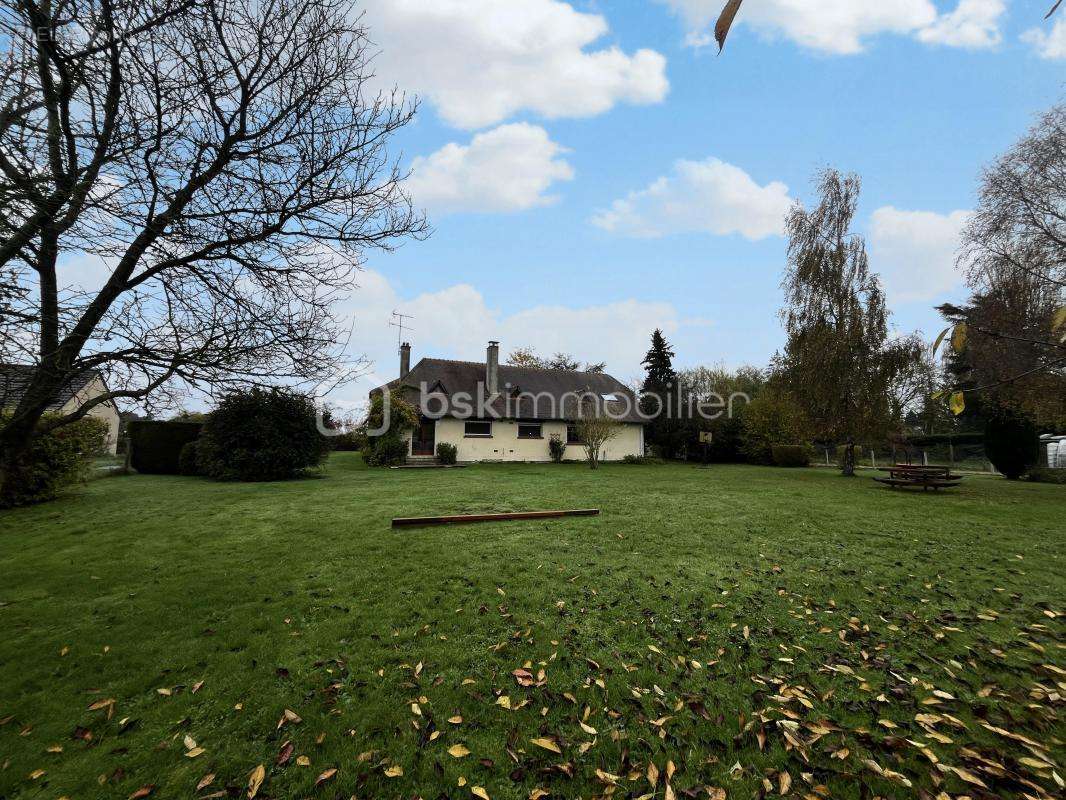
[[[45,417],[42,421],[50,418]],[[0,423],[2,421],[0,415]],[[36,434],[12,469],[4,493],[0,495],[0,508],[54,499],[65,486],[84,480],[93,457],[103,449],[107,441],[107,422],[94,417]]]

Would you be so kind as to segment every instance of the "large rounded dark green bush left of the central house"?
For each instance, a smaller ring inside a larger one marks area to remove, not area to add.
[[[254,388],[223,398],[211,412],[199,442],[199,465],[215,480],[285,480],[320,466],[329,448],[309,397]]]

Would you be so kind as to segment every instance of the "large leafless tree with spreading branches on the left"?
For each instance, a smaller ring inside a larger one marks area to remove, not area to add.
[[[33,366],[0,478],[38,426],[187,382],[310,383],[368,249],[426,229],[341,0],[0,0],[0,357]],[[65,286],[63,257],[107,274]],[[45,410],[77,375],[111,390]]]

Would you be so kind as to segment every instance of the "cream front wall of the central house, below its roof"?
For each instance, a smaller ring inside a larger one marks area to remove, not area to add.
[[[566,441],[565,422],[544,422],[540,426],[542,438],[518,438],[518,422],[514,420],[498,419],[491,425],[490,436],[467,436],[464,420],[450,417],[438,419],[436,443],[447,442],[455,445],[458,448],[459,461],[536,462],[551,461],[548,441],[553,433]],[[407,435],[406,438],[409,442],[410,436]],[[608,442],[601,451],[603,461],[621,461],[627,455],[643,454],[644,426],[629,422],[623,426],[618,435]],[[568,445],[566,458],[584,459],[584,448],[580,445]]]

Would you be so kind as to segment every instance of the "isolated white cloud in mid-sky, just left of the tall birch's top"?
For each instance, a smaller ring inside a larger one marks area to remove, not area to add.
[[[739,166],[716,158],[681,160],[671,175],[615,201],[592,223],[639,238],[706,233],[754,241],[780,236],[791,203],[780,181],[759,186]]]

